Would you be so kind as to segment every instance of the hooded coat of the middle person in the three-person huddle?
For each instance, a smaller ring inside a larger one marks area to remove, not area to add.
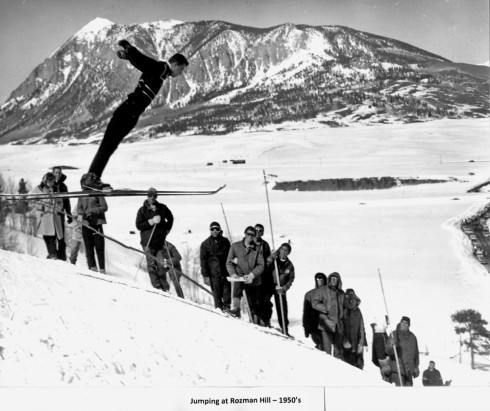
[[[337,277],[337,288],[330,286],[332,277]],[[332,273],[327,278],[327,284],[319,287],[313,295],[312,306],[320,312],[320,321],[318,328],[322,331],[332,333],[343,332],[344,318],[344,291],[342,290],[342,281],[338,273]]]

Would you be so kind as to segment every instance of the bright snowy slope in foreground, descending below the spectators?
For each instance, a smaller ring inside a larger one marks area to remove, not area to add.
[[[385,385],[153,289],[6,251],[0,267],[0,386]]]

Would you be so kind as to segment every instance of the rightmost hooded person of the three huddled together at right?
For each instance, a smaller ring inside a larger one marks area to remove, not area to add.
[[[344,360],[362,370],[364,368],[364,347],[367,346],[367,343],[360,304],[361,299],[352,288],[348,288],[344,299]]]

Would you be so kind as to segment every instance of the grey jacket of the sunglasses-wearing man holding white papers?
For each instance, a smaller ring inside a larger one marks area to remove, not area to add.
[[[262,273],[264,272],[264,256],[260,247],[252,242],[249,247],[245,245],[245,239],[233,243],[228,252],[226,268],[231,276],[240,277],[252,273],[254,279],[250,285],[258,286],[261,284]]]

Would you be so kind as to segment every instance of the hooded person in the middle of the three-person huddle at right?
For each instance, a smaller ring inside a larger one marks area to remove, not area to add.
[[[339,273],[330,274],[327,284],[315,291],[312,306],[320,312],[318,328],[322,332],[324,351],[342,359],[344,291]]]

